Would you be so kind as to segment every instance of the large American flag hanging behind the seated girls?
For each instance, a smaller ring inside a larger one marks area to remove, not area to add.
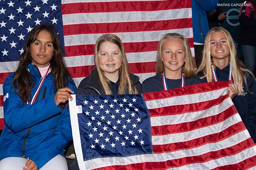
[[[187,36],[194,52],[191,17],[191,0],[0,0],[0,129],[3,83],[16,70],[35,25],[53,24],[77,84],[94,67],[94,43],[104,33],[122,39],[130,70],[142,82],[155,74],[157,45],[165,33]]]

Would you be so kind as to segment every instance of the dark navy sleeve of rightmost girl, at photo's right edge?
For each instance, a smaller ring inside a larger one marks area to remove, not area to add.
[[[253,76],[248,76],[247,85],[250,93],[248,92],[248,116],[250,134],[256,142],[256,82]]]

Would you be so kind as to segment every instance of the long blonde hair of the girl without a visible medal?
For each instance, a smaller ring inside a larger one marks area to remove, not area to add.
[[[100,36],[97,39],[95,48],[94,48],[94,61],[95,61],[96,69],[97,69],[97,74],[99,76],[100,83],[103,86],[105,93],[112,94],[112,92],[109,88],[109,79],[106,78],[106,76],[104,75],[104,72],[99,67],[98,51],[100,49],[100,45],[106,41],[116,44],[119,47],[119,49],[121,51],[121,55],[122,55],[122,65],[119,69],[120,83],[119,83],[118,94],[125,94],[125,90],[127,89],[127,87],[128,87],[129,94],[137,94],[137,88],[135,86],[132,86],[132,82],[130,79],[128,62],[126,59],[125,49],[123,47],[122,41],[118,36],[116,36],[114,34],[104,34],[104,35]]]

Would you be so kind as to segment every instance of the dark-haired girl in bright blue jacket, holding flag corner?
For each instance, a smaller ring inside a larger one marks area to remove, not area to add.
[[[67,169],[62,150],[72,133],[66,101],[75,91],[56,31],[34,27],[16,72],[3,85],[0,170]]]

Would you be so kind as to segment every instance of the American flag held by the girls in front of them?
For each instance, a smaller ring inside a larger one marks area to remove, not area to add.
[[[74,95],[80,170],[254,169],[256,146],[227,88],[211,82],[141,95]]]

